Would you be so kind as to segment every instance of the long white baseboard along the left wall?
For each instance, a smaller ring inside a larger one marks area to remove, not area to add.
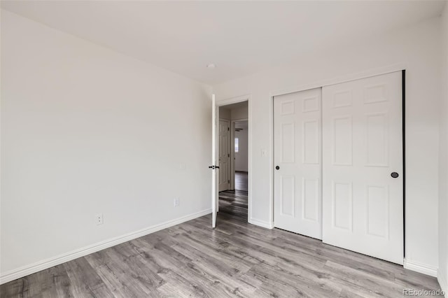
[[[104,248],[110,248],[111,246],[116,246],[117,244],[130,241],[132,239],[139,238],[141,236],[145,236],[154,232],[158,232],[161,229],[166,229],[167,227],[172,227],[174,225],[179,225],[182,222],[186,222],[188,220],[194,220],[195,218],[200,218],[201,216],[207,215],[211,213],[211,209],[207,209],[204,211],[200,211],[197,213],[193,213],[190,215],[183,216],[181,218],[176,218],[175,220],[169,220],[167,222],[162,222],[158,225],[153,225],[151,227],[146,227],[144,229],[139,229],[135,232],[130,232],[128,234],[124,234],[122,236],[114,237],[108,239],[106,241],[94,243],[91,246],[85,246],[84,248],[80,248],[77,250],[72,250],[69,253],[64,253],[62,255],[57,255],[55,257],[51,257],[47,260],[42,260],[36,262],[34,264],[29,264],[18,269],[13,269],[7,271],[0,275],[0,285],[3,283],[8,283],[9,281],[14,281],[17,278],[22,278],[29,274],[34,274],[38,271],[42,271],[44,269],[48,269],[59,264],[69,262],[71,260],[75,260],[78,257],[83,257],[85,255],[89,255],[91,253],[96,253],[99,250],[103,250]]]

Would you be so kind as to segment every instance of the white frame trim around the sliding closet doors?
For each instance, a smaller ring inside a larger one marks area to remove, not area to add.
[[[346,76],[341,76],[338,78],[332,78],[328,80],[320,80],[314,83],[309,83],[305,85],[298,85],[297,87],[291,87],[289,89],[284,90],[276,90],[269,93],[269,141],[270,141],[270,150],[269,150],[269,164],[271,166],[271,171],[269,171],[269,222],[267,222],[267,227],[274,228],[274,97],[293,93],[300,92],[304,90],[325,87],[328,85],[335,85],[339,83],[346,83],[351,80],[359,80],[363,78],[370,78],[372,76],[381,76],[386,73],[393,73],[396,71],[402,72],[402,157],[403,157],[403,169],[402,169],[402,177],[403,177],[403,257],[406,256],[406,163],[405,163],[405,153],[406,153],[406,142],[405,142],[405,95],[406,95],[406,85],[405,85],[405,71],[407,69],[407,64],[394,64],[391,66],[385,66],[377,69],[370,69],[367,71],[362,71],[358,73],[351,73]],[[263,153],[263,150],[262,150]],[[263,154],[262,154],[263,155]]]

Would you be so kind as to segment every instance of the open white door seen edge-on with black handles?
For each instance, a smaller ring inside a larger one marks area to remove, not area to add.
[[[216,175],[216,131],[218,127],[216,115],[219,113],[216,109],[215,94],[211,95],[211,227],[216,227],[216,213],[218,212],[218,180]]]

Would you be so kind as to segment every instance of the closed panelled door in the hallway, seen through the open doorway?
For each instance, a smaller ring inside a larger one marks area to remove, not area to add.
[[[230,121],[219,120],[219,191],[230,189]]]

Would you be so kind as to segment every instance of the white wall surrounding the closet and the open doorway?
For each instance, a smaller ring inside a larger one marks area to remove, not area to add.
[[[281,46],[281,45],[279,45]],[[407,69],[406,259],[435,274],[440,99],[440,20],[365,36],[279,66],[214,86],[218,101],[251,94],[252,221],[272,225],[272,99],[276,90],[332,80],[392,64]],[[261,150],[268,154],[262,157]]]

